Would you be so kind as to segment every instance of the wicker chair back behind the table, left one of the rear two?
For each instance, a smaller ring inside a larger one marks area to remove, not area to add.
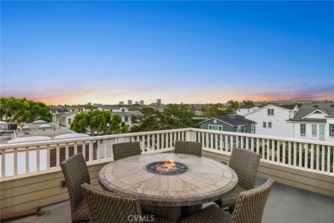
[[[132,155],[141,155],[141,144],[139,144],[139,141],[113,144],[113,160],[120,160]]]

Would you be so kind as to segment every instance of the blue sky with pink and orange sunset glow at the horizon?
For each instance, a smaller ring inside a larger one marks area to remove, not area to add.
[[[1,1],[1,97],[334,100],[334,2]]]

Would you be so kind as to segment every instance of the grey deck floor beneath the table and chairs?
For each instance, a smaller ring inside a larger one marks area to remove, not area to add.
[[[257,179],[257,185],[265,180]],[[212,203],[206,203],[208,206]],[[334,198],[276,183],[269,196],[262,222],[306,223],[333,222]],[[70,202],[63,201],[42,208],[40,217],[24,217],[10,222],[59,223],[70,221]]]

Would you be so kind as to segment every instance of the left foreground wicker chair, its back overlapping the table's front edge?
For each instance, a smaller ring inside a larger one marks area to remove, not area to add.
[[[170,222],[151,215],[141,215],[141,206],[134,197],[106,192],[87,183],[81,187],[84,190],[91,223]]]

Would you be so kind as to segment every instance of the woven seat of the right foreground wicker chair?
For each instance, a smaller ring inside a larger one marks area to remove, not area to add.
[[[230,213],[212,204],[198,213],[186,217],[181,223],[228,223],[231,222],[231,219]]]

